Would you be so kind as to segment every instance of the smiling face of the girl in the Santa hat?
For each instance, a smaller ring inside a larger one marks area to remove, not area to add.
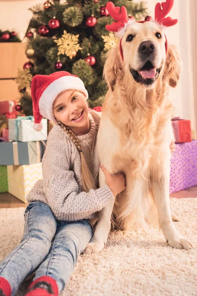
[[[80,91],[66,90],[60,93],[53,103],[56,119],[69,126],[76,134],[87,132],[90,128],[88,104]]]

